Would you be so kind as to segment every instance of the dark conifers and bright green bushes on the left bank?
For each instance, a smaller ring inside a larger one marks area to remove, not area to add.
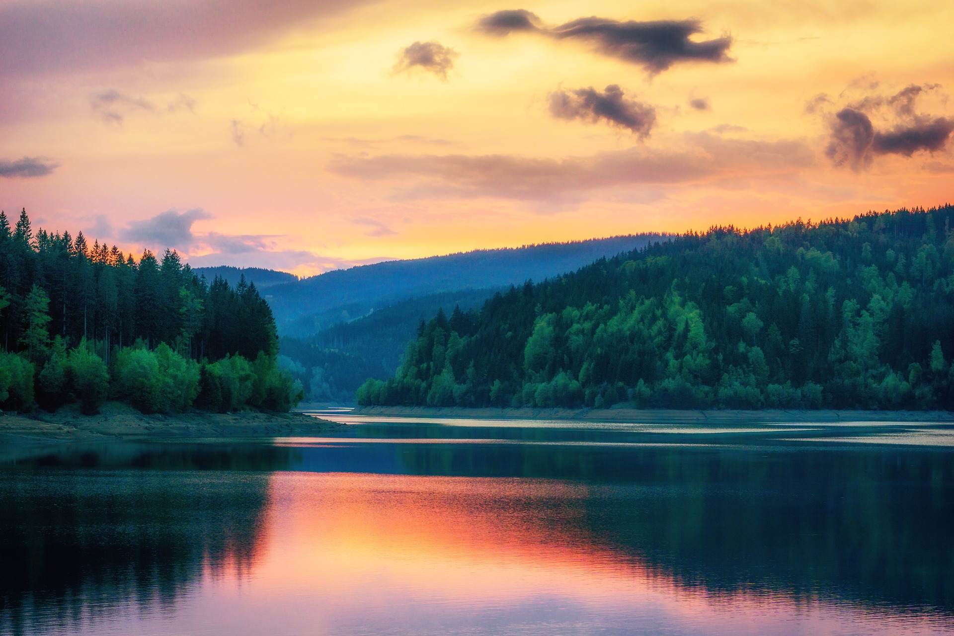
[[[0,406],[108,398],[148,412],[287,410],[301,386],[277,364],[275,319],[254,284],[208,284],[174,250],[138,260],[79,233],[0,212]]]

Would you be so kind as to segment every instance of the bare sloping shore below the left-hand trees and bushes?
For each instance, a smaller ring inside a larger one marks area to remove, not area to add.
[[[183,413],[144,415],[127,404],[108,402],[98,415],[84,416],[76,405],[55,413],[0,416],[0,446],[55,441],[110,441],[145,438],[245,438],[326,435],[342,424],[302,413]]]

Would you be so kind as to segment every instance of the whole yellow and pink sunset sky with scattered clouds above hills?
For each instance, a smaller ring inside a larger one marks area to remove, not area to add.
[[[954,200],[954,3],[0,0],[0,207],[194,265]]]

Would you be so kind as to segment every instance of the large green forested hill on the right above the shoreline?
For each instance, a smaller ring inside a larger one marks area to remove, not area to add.
[[[714,228],[439,314],[363,404],[954,408],[954,207]]]

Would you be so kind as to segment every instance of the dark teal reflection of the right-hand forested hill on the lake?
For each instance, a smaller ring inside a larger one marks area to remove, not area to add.
[[[681,587],[954,612],[954,462],[943,450],[502,444],[488,453],[400,444],[394,452],[412,474],[585,482],[586,527],[575,529]]]

